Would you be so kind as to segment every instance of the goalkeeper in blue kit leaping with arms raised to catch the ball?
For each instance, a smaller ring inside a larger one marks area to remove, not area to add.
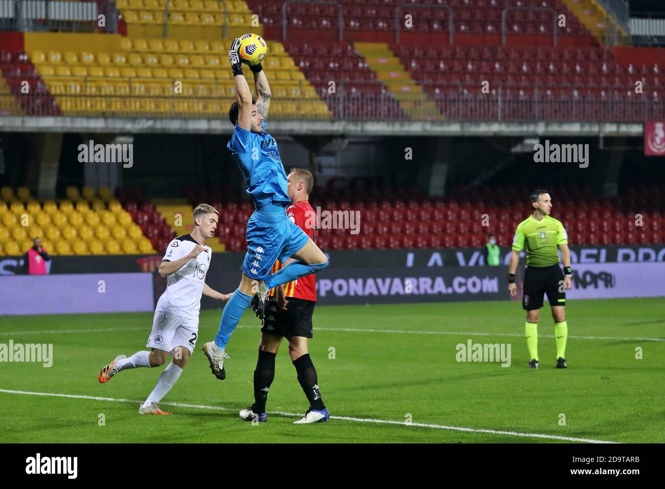
[[[226,377],[227,342],[252,299],[256,297],[255,310],[263,311],[263,301],[270,289],[316,273],[328,265],[323,251],[287,217],[286,208],[291,205],[287,174],[277,142],[265,132],[270,86],[261,64],[251,66],[257,95],[256,102],[252,99],[240,63],[239,47],[239,39],[234,39],[229,51],[237,101],[229,110],[229,120],[235,127],[227,148],[245,177],[247,194],[256,209],[247,221],[247,253],[240,285],[224,307],[217,337],[203,345],[210,369],[220,380]],[[294,257],[295,261],[270,273],[275,260],[283,262],[289,257]]]

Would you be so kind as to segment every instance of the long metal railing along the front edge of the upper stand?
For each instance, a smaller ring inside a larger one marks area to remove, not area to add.
[[[18,100],[34,116],[59,115],[61,109],[68,116],[216,118],[225,116],[235,100],[227,85],[217,82],[184,81],[183,92],[176,93],[176,80],[164,79],[158,86],[118,77],[105,79],[108,85],[100,85],[98,79],[88,78],[72,82],[59,78],[51,81],[48,89],[35,81],[30,93],[0,94],[0,114],[11,114]],[[305,92],[303,82],[298,83],[301,93]],[[483,93],[461,83],[422,82],[425,92],[404,94],[399,100],[420,110],[408,115],[398,109],[398,101],[388,90],[362,90],[362,84],[370,82],[340,82],[335,93],[329,93],[325,83],[321,86],[313,81],[317,98],[275,98],[271,119],[329,120],[329,114],[317,110],[321,100],[334,120],[441,120],[443,116],[460,121],[638,122],[665,117],[665,100],[650,94],[648,87],[644,95],[637,95],[619,88],[589,92],[562,87],[553,91],[533,85],[494,84],[491,92]],[[45,103],[49,96],[57,100],[57,107]]]

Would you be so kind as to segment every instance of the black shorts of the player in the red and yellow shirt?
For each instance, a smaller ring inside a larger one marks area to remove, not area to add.
[[[315,301],[287,297],[287,310],[282,311],[277,305],[277,299],[270,297],[263,306],[263,325],[261,333],[271,333],[277,336],[290,338],[313,336],[312,315]]]

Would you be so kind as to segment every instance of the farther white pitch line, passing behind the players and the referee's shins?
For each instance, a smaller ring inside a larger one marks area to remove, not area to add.
[[[259,325],[238,325],[238,328],[259,329]],[[327,328],[317,327],[317,331],[340,331],[342,333],[397,333],[400,335],[452,335],[452,336],[509,336],[523,338],[519,333],[483,333],[480,331],[418,331],[409,329],[364,329],[364,328]],[[96,328],[96,329],[42,329],[37,331],[0,331],[1,336],[8,335],[39,335],[39,334],[57,334],[57,333],[106,333],[108,331],[149,331],[146,327],[134,328]],[[555,335],[540,335],[542,338],[554,338]],[[665,338],[633,338],[616,336],[576,336],[568,335],[572,339],[614,339],[622,341],[665,341]]]

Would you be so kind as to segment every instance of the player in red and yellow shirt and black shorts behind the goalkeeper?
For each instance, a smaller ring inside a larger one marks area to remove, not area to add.
[[[301,228],[313,242],[317,242],[317,215],[309,205],[309,194],[314,188],[311,172],[294,168],[289,173],[287,191],[291,206],[287,216]],[[271,273],[287,265],[276,261]],[[312,315],[317,301],[316,275],[306,275],[297,280],[280,285],[269,291],[269,300],[265,301],[259,359],[254,371],[254,404],[240,411],[245,421],[257,419],[267,421],[265,403],[270,385],[275,379],[275,357],[277,349],[285,337],[289,341],[289,355],[298,374],[298,381],[309,401],[305,416],[295,424],[327,421],[328,409],[321,400],[317,370],[307,351],[307,339],[313,336]]]

